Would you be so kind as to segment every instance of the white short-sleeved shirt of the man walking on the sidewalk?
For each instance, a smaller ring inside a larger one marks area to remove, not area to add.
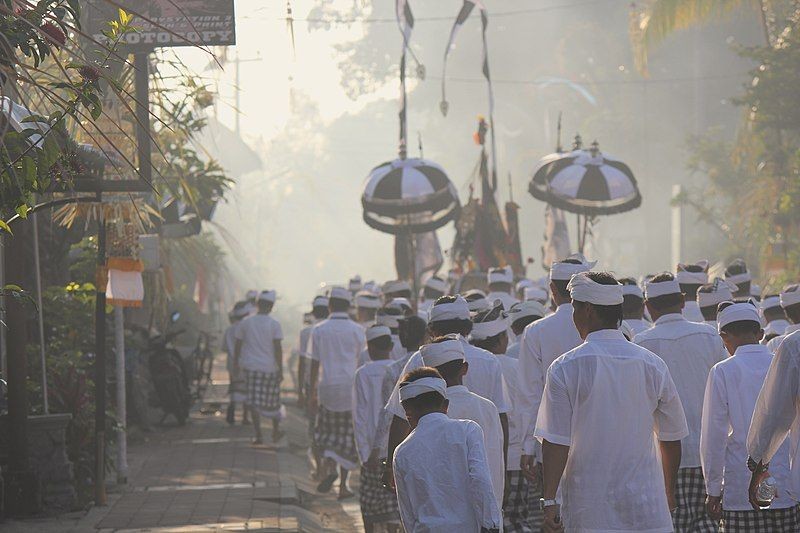
[[[266,374],[277,371],[274,343],[282,339],[281,325],[270,315],[257,313],[245,318],[236,328],[236,340],[242,341],[239,366]]]

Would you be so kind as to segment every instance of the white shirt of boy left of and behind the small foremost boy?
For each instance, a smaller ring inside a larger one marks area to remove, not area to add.
[[[381,359],[370,361],[356,370],[353,387],[353,428],[356,436],[356,449],[361,463],[367,462],[374,448],[379,451],[378,457],[386,457],[388,441],[376,442],[375,430],[378,427],[383,410],[381,385],[386,368],[394,361]]]

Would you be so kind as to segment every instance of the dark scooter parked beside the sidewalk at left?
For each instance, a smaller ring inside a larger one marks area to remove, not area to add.
[[[170,323],[180,319],[180,313],[170,316]],[[181,354],[172,346],[172,341],[185,330],[169,331],[153,337],[148,343],[148,365],[150,377],[158,396],[159,406],[164,411],[161,423],[172,415],[179,425],[184,425],[189,417],[192,396],[189,375],[186,372]]]

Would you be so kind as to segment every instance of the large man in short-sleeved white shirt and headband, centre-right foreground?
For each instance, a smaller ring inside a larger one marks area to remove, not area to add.
[[[536,422],[545,531],[671,533],[688,429],[669,369],[617,329],[622,285],[611,274],[576,274],[569,287],[585,342],[550,365]]]

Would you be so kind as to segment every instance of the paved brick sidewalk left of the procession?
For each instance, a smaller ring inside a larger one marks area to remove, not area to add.
[[[157,428],[147,442],[129,447],[128,484],[109,494],[106,507],[5,522],[0,529],[363,531],[357,496],[339,502],[336,491],[316,493],[309,478],[307,423],[294,396],[284,393],[287,437],[277,446],[253,447],[252,427],[225,422],[228,384],[221,357],[214,378],[186,426]],[[269,441],[269,428],[265,437]],[[351,478],[357,482],[358,475]]]

